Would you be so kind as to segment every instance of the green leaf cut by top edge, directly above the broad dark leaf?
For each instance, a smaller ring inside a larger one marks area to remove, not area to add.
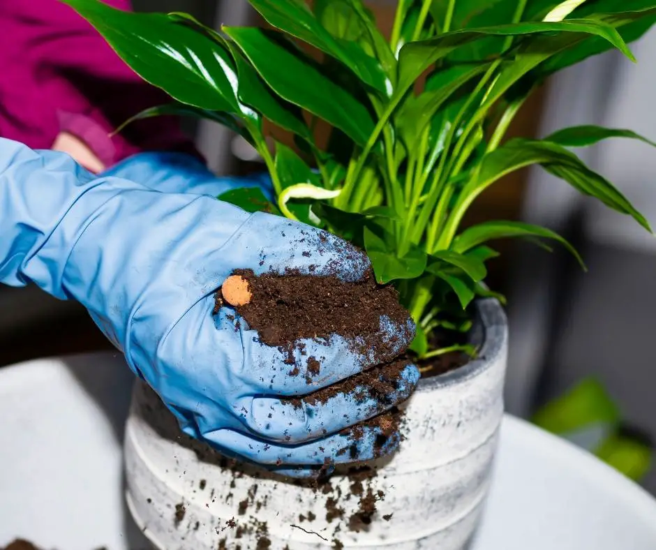
[[[327,29],[321,26],[306,3],[299,0],[248,1],[269,24],[318,47],[348,66],[362,82],[382,94],[387,94],[387,77],[378,59],[368,56],[357,42],[332,36]],[[285,72],[290,71],[294,76],[288,66],[277,65],[272,68],[276,70],[285,68]],[[327,97],[329,97],[328,94]]]

